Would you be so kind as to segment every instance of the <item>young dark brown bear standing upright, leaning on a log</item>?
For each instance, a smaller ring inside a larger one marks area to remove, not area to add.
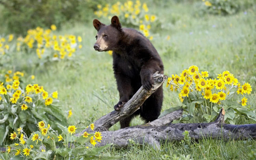
[[[114,109],[120,111],[141,86],[146,90],[152,88],[152,75],[156,71],[163,74],[163,62],[152,43],[139,31],[122,28],[117,16],[111,18],[108,26],[94,19],[93,26],[98,31],[93,48],[113,51],[113,72],[120,97]],[[136,115],[140,115],[145,123],[156,120],[162,103],[163,86],[160,86],[134,114],[120,121],[121,128],[129,127]]]

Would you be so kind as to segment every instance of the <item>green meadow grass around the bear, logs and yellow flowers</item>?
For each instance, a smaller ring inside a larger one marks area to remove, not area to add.
[[[197,13],[199,2],[182,2],[160,7],[150,6],[150,12],[158,15],[161,22],[155,30],[152,44],[160,53],[165,66],[165,74],[178,74],[184,68],[197,65],[207,70],[211,77],[229,70],[239,81],[249,82],[256,89],[256,9],[255,5],[247,10],[247,15],[239,12],[230,16],[200,15]],[[105,24],[110,21],[102,20]],[[72,33],[83,37],[83,50],[73,61],[60,61],[47,66],[34,68],[27,64],[31,57],[20,57],[15,64],[20,70],[35,75],[35,81],[46,90],[59,92],[63,110],[72,109],[69,123],[84,126],[111,112],[119,101],[113,76],[112,57],[106,52],[93,49],[96,30],[91,24],[76,23],[63,26],[61,34]],[[167,35],[171,36],[167,40]],[[33,60],[33,59],[32,59]],[[255,92],[248,96],[249,104],[256,110]],[[163,110],[180,105],[178,93],[164,88]],[[132,120],[131,125],[142,124],[140,118]],[[237,124],[256,123],[241,119]],[[117,130],[115,124],[110,130]],[[164,142],[161,151],[150,146],[129,146],[126,149],[110,148],[111,155],[126,155],[123,159],[173,159],[190,154],[193,159],[248,159],[255,141],[233,141],[203,139],[192,142],[187,148],[179,142]],[[168,156],[171,157],[168,157]],[[163,157],[162,157],[163,156]]]

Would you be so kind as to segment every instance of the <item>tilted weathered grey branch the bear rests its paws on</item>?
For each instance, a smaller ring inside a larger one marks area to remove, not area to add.
[[[145,100],[163,84],[165,79],[167,79],[167,76],[156,72],[152,75],[152,78],[154,79],[154,84],[151,90],[147,91],[143,88],[143,86],[141,86],[141,88],[139,88],[139,90],[124,105],[124,107],[121,108],[120,111],[114,110],[93,122],[95,124],[95,131],[108,131],[108,129],[112,125],[132,115],[136,110],[139,109],[139,107],[145,102]],[[76,136],[79,136],[85,131],[90,132],[90,129],[85,129],[79,134],[76,134]]]

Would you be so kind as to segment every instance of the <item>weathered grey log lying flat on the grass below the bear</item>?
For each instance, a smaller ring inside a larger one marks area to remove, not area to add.
[[[174,111],[176,112],[176,111]],[[243,140],[252,138],[256,140],[256,124],[231,125],[224,123],[224,109],[221,109],[219,116],[211,123],[169,123],[168,125],[156,126],[154,121],[145,125],[137,125],[119,129],[117,131],[102,131],[102,141],[98,146],[113,143],[118,147],[125,147],[134,140],[139,144],[148,143],[156,148],[160,147],[163,140],[182,140],[184,131],[189,131],[189,136],[195,140],[202,138]],[[169,116],[165,115],[165,116]],[[163,117],[165,117],[163,116]],[[159,120],[155,120],[156,122]]]

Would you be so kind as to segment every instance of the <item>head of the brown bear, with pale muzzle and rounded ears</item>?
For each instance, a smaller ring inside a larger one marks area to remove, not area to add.
[[[108,26],[101,23],[99,20],[94,19],[93,26],[98,31],[96,35],[96,43],[93,48],[96,51],[114,50],[118,45],[122,33],[122,26],[119,22],[119,18],[113,16],[111,18],[111,24]]]

